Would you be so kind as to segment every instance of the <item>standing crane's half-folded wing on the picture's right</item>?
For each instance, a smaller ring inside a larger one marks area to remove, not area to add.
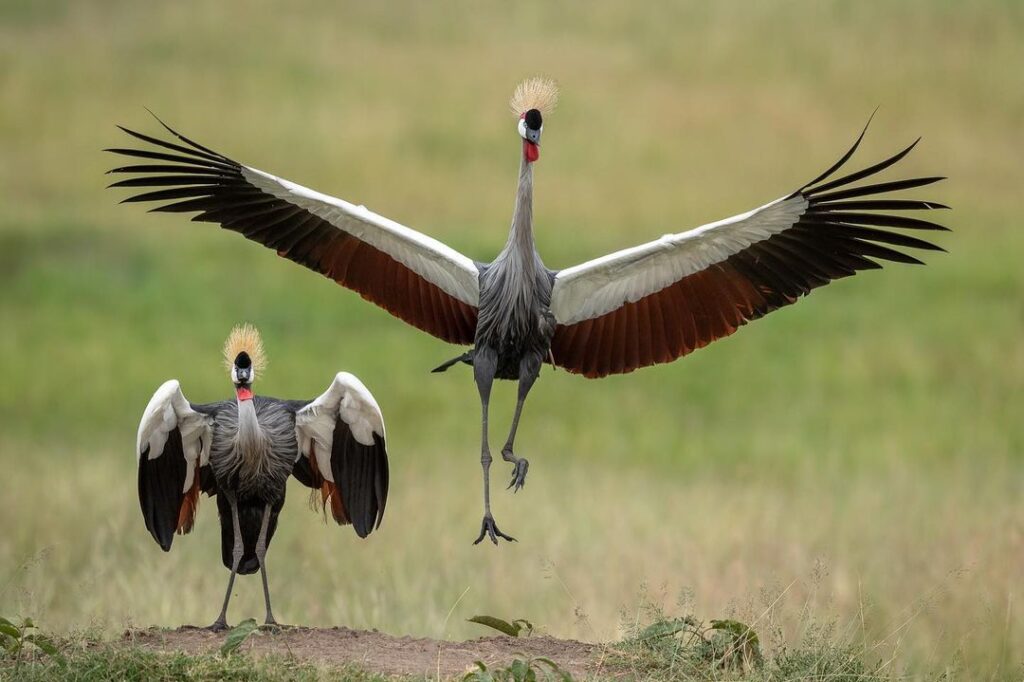
[[[387,503],[384,417],[356,377],[339,372],[328,389],[295,413],[299,445],[293,473],[321,491],[339,524],[360,538],[380,527]]]

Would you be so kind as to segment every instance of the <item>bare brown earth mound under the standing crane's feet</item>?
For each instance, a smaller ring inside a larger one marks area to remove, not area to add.
[[[122,641],[161,651],[211,653],[224,642],[224,633],[182,627],[177,630],[129,630]],[[393,637],[376,631],[348,628],[287,627],[261,630],[241,647],[257,656],[280,654],[319,665],[354,665],[384,675],[416,675],[451,678],[461,676],[476,660],[488,668],[503,667],[514,658],[545,656],[577,679],[600,672],[607,647],[554,637],[480,637],[450,642],[413,637]]]

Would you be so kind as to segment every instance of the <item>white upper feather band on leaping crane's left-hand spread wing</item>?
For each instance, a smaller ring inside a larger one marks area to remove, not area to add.
[[[463,303],[474,307],[479,304],[479,271],[476,264],[447,245],[377,215],[365,206],[349,204],[261,170],[243,166],[242,174],[263,191],[303,208],[380,249]]]

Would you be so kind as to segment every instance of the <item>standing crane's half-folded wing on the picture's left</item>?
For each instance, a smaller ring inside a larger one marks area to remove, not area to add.
[[[210,463],[216,404],[193,406],[174,379],[150,399],[138,425],[138,502],[145,527],[165,552],[174,534],[189,532],[196,520],[201,470]],[[212,477],[208,477],[208,481]]]

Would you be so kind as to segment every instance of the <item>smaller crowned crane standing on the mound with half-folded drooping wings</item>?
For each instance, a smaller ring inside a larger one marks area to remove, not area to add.
[[[138,501],[145,527],[165,551],[174,534],[193,529],[200,493],[216,496],[220,555],[231,571],[220,615],[227,627],[234,576],[260,571],[266,623],[274,625],[266,551],[285,504],[289,475],[313,488],[339,524],[366,538],[380,526],[387,502],[384,419],[358,379],[341,372],[312,400],[255,395],[263,344],[249,325],[224,345],[234,397],[189,402],[175,380],[146,406],[138,427]]]

